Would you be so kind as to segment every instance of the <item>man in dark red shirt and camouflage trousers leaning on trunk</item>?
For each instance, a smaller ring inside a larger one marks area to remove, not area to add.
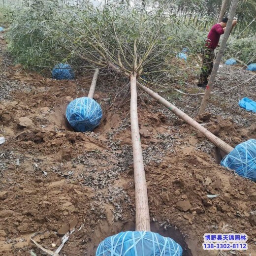
[[[207,36],[205,47],[203,49],[201,74],[197,84],[199,87],[206,88],[208,84],[208,76],[213,69],[214,50],[219,46],[219,40],[221,35],[225,32],[227,20],[228,18],[224,18],[222,22],[213,25]],[[237,21],[233,20],[232,27],[235,26],[236,23]]]

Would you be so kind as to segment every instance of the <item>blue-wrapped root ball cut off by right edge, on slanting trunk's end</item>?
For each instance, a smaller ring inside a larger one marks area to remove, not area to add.
[[[235,170],[237,174],[256,181],[256,139],[237,145],[221,161],[221,165]]]

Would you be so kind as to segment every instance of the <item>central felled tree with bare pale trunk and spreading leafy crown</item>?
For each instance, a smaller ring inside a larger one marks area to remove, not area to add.
[[[111,6],[99,10],[91,6],[79,12],[68,10],[67,16],[67,21],[55,19],[55,23],[60,28],[56,41],[69,52],[69,58],[79,57],[91,67],[114,69],[130,80],[136,230],[150,231],[136,82],[147,79],[156,86],[158,82],[166,85],[181,79],[182,73],[171,61],[179,40],[172,34],[173,22],[163,8],[149,15],[136,8]]]

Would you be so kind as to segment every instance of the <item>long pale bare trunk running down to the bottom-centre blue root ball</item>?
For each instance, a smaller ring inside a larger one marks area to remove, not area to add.
[[[135,184],[136,230],[150,231],[147,183],[140,144],[136,74],[130,76],[130,128],[132,139],[133,170]]]

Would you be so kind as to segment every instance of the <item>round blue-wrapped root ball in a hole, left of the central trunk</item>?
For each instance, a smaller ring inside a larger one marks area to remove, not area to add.
[[[99,125],[101,118],[101,107],[92,98],[76,98],[67,105],[66,119],[76,131],[93,131]]]

